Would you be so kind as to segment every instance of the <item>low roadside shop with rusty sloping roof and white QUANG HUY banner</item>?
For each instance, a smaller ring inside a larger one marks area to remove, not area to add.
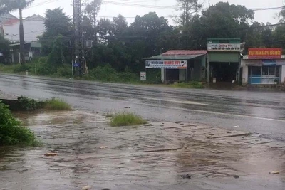
[[[207,51],[172,50],[145,58],[145,69],[160,69],[162,82],[206,81]]]

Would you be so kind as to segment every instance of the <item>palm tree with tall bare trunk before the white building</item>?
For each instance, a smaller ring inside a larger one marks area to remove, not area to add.
[[[21,64],[25,63],[25,47],[24,47],[24,26],[23,26],[23,9],[33,3],[34,0],[0,0],[0,14],[4,12],[9,12],[19,9],[19,19],[20,19],[20,58]]]

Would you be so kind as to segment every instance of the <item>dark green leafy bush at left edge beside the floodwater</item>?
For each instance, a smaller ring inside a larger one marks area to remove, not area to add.
[[[2,145],[25,145],[37,146],[40,144],[35,134],[21,122],[16,120],[7,105],[0,102],[0,146]]]

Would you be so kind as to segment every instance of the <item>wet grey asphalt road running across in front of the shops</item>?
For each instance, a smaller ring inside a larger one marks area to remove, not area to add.
[[[199,122],[285,141],[285,93],[177,89],[0,75],[0,91],[59,97],[80,110],[136,112],[151,121]]]

